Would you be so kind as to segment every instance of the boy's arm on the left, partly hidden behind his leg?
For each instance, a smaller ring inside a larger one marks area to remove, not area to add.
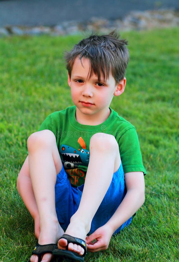
[[[35,236],[39,238],[40,227],[39,227],[39,212],[37,209],[32,183],[29,174],[29,163],[28,156],[25,159],[23,166],[19,172],[17,178],[17,191],[19,192],[26,208],[29,210],[30,215],[33,217],[35,222]]]

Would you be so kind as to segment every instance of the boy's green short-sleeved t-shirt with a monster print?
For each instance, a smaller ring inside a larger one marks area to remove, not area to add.
[[[124,173],[142,171],[146,174],[135,127],[113,109],[110,110],[106,121],[92,126],[78,123],[76,107],[67,107],[50,114],[39,128],[39,131],[48,129],[54,133],[63,166],[73,186],[84,184],[89,163],[89,141],[98,132],[116,138]]]

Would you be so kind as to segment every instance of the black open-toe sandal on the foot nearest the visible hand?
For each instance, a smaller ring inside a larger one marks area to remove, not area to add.
[[[83,262],[84,261],[84,256],[86,255],[87,253],[87,247],[86,247],[86,242],[81,239],[81,238],[75,238],[75,237],[72,237],[70,235],[63,235],[61,236],[61,238],[65,238],[67,240],[67,246],[66,246],[66,250],[63,250],[63,249],[55,249],[52,254],[58,258],[64,258],[64,259],[71,259],[73,261],[80,261],[80,262]],[[59,239],[61,239],[59,238]],[[84,254],[82,256],[80,256],[79,254],[73,252],[73,251],[69,251],[68,250],[68,244],[69,243],[73,243],[73,244],[76,244],[76,245],[79,245],[81,247],[83,247],[84,249]]]

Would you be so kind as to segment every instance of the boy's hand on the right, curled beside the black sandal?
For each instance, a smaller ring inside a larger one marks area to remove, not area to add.
[[[107,249],[113,233],[107,224],[99,227],[94,233],[86,237],[87,250],[89,252],[97,252]]]

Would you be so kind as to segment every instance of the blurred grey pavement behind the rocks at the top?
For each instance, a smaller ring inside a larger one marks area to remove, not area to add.
[[[92,17],[123,18],[132,10],[179,9],[178,0],[0,0],[0,26],[53,26]]]

